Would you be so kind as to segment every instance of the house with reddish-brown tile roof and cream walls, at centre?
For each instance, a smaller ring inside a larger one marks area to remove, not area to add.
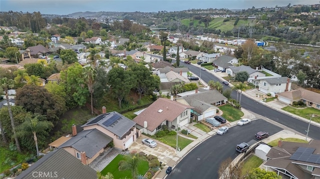
[[[133,121],[136,128],[148,135],[154,135],[165,125],[174,130],[190,122],[191,106],[178,103],[166,98],[158,98]]]

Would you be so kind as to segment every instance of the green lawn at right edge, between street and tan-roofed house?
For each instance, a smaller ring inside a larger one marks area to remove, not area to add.
[[[303,117],[308,120],[310,119],[312,114],[314,114],[314,117],[311,120],[314,122],[320,123],[320,110],[317,110],[314,108],[297,109],[297,108],[292,108],[290,106],[286,106],[282,108],[282,110],[295,114],[297,116]]]

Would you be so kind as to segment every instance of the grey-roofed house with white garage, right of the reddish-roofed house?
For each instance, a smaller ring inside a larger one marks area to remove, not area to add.
[[[207,90],[200,93],[195,90],[194,94],[175,98],[175,101],[192,106],[191,114],[196,116],[197,120],[200,121],[207,117],[214,116],[216,110],[219,109],[216,106],[226,104],[227,98],[217,90]]]

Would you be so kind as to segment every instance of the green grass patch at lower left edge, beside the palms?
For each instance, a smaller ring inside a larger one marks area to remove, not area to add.
[[[21,154],[18,151],[10,151],[4,147],[0,147],[0,173],[25,162],[25,159],[29,156],[29,154]]]

